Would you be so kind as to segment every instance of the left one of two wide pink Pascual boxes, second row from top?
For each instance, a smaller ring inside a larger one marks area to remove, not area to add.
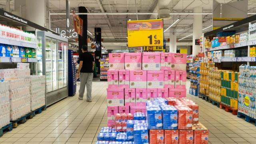
[[[146,70],[130,70],[130,88],[147,88]]]

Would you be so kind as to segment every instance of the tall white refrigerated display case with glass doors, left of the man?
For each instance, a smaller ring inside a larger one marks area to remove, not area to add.
[[[46,106],[68,96],[68,39],[37,32],[38,75],[46,76]]]

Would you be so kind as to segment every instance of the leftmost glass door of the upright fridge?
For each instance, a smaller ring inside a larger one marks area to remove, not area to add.
[[[52,39],[45,38],[46,92],[52,91]]]

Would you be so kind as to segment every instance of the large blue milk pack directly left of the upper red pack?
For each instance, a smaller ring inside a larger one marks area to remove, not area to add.
[[[176,130],[178,128],[178,110],[174,106],[161,106],[163,114],[163,129]]]

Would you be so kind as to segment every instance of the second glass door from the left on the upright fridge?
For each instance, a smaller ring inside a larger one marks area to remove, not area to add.
[[[57,80],[57,40],[52,39],[52,90],[58,89]]]

